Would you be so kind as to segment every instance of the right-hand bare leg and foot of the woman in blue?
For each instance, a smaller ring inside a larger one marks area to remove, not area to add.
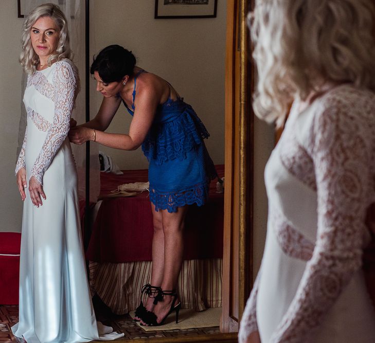
[[[164,232],[164,274],[161,284],[162,290],[171,291],[176,288],[178,275],[182,265],[184,250],[183,230],[185,215],[188,206],[178,207],[177,212],[169,213],[167,210],[160,210]],[[154,251],[154,249],[153,249]],[[165,296],[153,309],[160,322],[169,312],[173,297]],[[142,322],[145,324],[144,322]]]

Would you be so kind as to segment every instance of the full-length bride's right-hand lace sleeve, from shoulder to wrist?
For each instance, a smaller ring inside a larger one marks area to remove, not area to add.
[[[75,101],[77,78],[74,69],[65,61],[56,62],[53,70],[53,87],[55,87],[55,113],[53,123],[48,130],[43,147],[34,166],[31,176],[42,184],[43,174],[48,169],[53,157],[61,147],[69,132],[69,120]]]

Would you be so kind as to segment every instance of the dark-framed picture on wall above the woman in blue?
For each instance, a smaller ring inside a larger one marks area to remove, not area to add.
[[[218,0],[155,0],[155,19],[215,18]]]

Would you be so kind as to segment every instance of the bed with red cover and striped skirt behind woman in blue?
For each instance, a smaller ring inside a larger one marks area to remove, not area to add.
[[[220,177],[224,166],[218,165]],[[147,182],[147,170],[101,173],[99,201],[86,249],[92,294],[116,314],[134,310],[142,285],[150,280],[152,213],[148,191],[131,197],[113,196],[119,185]],[[224,195],[210,184],[209,201],[190,206],[184,230],[184,262],[177,292],[183,308],[203,311],[220,307],[223,256]],[[87,233],[85,233],[87,234]]]

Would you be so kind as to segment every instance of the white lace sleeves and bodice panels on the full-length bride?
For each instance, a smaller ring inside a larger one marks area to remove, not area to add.
[[[62,60],[52,65],[54,68],[52,84],[44,77],[43,73],[36,71],[29,76],[27,86],[35,89],[55,103],[53,121],[49,122],[40,114],[27,108],[27,115],[40,131],[47,132],[42,149],[35,160],[29,177],[34,176],[42,184],[43,174],[48,169],[53,157],[61,147],[69,132],[70,115],[74,107],[78,89],[77,71],[72,62]],[[26,134],[24,144],[17,161],[16,172],[25,166],[24,155],[26,145]]]

